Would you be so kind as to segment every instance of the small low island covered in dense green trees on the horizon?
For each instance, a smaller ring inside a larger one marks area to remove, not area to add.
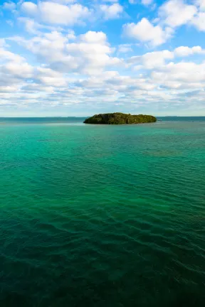
[[[95,114],[84,121],[85,124],[144,124],[152,122],[157,122],[157,118],[152,115],[131,115],[119,112]]]

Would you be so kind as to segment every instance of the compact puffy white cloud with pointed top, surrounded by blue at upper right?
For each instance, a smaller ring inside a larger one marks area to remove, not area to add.
[[[153,26],[147,18],[142,18],[138,23],[127,23],[123,26],[125,36],[135,38],[153,46],[162,45],[172,36],[172,29],[162,29],[161,26]]]

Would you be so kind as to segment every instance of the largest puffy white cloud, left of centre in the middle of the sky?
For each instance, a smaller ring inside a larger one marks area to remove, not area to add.
[[[19,37],[11,40],[54,70],[100,74],[106,66],[122,65],[122,60],[111,56],[115,49],[110,47],[105,33],[88,31],[76,37],[75,43],[70,43],[69,36],[53,31],[30,40]]]

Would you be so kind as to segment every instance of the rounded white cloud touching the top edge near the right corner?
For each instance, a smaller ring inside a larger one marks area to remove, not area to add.
[[[183,0],[169,0],[159,8],[162,23],[173,28],[191,21],[196,12],[196,6],[185,4]]]

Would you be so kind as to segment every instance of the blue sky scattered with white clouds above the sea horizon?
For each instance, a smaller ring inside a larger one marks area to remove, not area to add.
[[[205,0],[0,0],[0,117],[205,115]]]

